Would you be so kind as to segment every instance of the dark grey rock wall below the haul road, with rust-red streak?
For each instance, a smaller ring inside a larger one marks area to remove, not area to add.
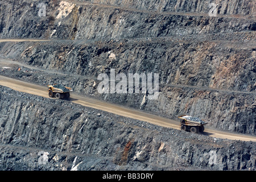
[[[255,169],[255,142],[191,135],[3,86],[0,109],[1,170]]]

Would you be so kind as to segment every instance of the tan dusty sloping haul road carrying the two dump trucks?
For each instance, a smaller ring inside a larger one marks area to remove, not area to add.
[[[11,89],[17,90],[19,92],[26,92],[30,94],[35,94],[42,97],[48,97],[47,86],[41,86],[32,84],[29,82],[24,82],[16,80],[14,78],[9,78],[5,76],[0,76],[0,85],[7,86]],[[28,89],[30,88],[30,89]],[[171,127],[173,129],[180,129],[179,122],[172,119],[160,117],[158,115],[145,113],[143,111],[127,108],[120,105],[110,104],[108,102],[96,100],[93,98],[88,98],[85,96],[80,96],[79,94],[72,93],[70,100],[76,104],[83,106],[93,107],[94,109],[100,109],[108,111],[110,113],[122,115],[123,117],[129,117],[133,119],[139,119],[141,121],[153,123],[155,125],[163,127]],[[234,139],[234,140],[244,140],[244,141],[253,141],[256,142],[256,137],[251,135],[235,134],[228,133],[224,131],[217,131],[213,129],[205,129],[205,135],[215,138],[224,138],[224,139]]]

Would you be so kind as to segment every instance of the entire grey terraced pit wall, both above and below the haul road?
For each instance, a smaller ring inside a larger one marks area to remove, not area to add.
[[[16,64],[0,73],[255,135],[255,10],[254,0],[2,1],[0,38],[51,41],[1,40],[0,57]],[[97,77],[110,69],[157,73],[158,98],[99,93]],[[255,143],[1,89],[2,170],[255,169]]]

